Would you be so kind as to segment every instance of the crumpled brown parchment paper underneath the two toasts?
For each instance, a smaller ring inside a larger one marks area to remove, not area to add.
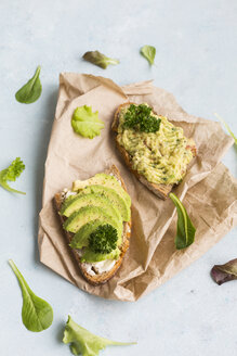
[[[195,242],[186,250],[174,246],[175,208],[161,201],[130,174],[116,150],[110,131],[114,113],[124,101],[147,102],[158,114],[182,126],[196,141],[198,154],[184,181],[174,189],[197,228]],[[101,137],[93,140],[74,134],[70,118],[80,105],[92,105],[105,122]],[[85,74],[60,76],[60,93],[53,124],[40,213],[40,260],[78,288],[106,298],[136,301],[200,257],[237,223],[237,181],[220,163],[233,144],[219,123],[188,115],[174,97],[152,81],[119,87],[110,79]],[[132,199],[130,250],[116,276],[106,284],[92,287],[81,277],[74,260],[52,199],[116,164]]]

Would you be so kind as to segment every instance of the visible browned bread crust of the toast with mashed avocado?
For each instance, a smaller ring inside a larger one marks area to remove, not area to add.
[[[111,129],[115,132],[118,134],[119,114],[120,114],[121,109],[122,107],[129,107],[131,104],[136,105],[135,103],[127,102],[127,103],[123,103],[123,104],[119,105],[119,107],[117,109],[117,111],[115,113],[114,122],[113,122],[113,125],[111,125]],[[155,113],[154,110],[153,110],[153,112]],[[117,148],[120,151],[120,153],[121,153],[121,155],[122,155],[122,157],[123,157],[127,166],[135,175],[135,177],[144,186],[146,186],[149,190],[152,190],[154,194],[156,194],[158,198],[160,198],[162,200],[166,200],[169,196],[169,193],[171,192],[171,190],[172,190],[172,188],[173,188],[174,185],[157,185],[157,183],[149,182],[144,176],[142,176],[141,174],[139,174],[137,170],[134,170],[133,169],[131,156],[126,151],[126,149],[123,147],[121,147],[120,143],[118,142],[117,135],[116,135],[116,144],[117,144]],[[195,141],[193,139],[189,139],[188,149],[189,148],[190,148],[190,151],[193,153],[193,156],[196,156],[196,147],[195,147]]]

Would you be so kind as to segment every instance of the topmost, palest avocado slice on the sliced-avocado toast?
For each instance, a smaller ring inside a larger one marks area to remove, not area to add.
[[[85,188],[87,186],[94,185],[105,186],[107,188],[114,189],[124,200],[128,208],[130,208],[131,198],[129,196],[129,194],[124,191],[120,182],[114,176],[106,175],[105,173],[98,173],[94,177],[87,180],[76,180],[73,183],[73,190],[77,191]]]

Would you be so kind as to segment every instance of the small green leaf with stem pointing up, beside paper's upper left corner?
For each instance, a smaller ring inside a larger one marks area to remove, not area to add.
[[[27,81],[16,93],[15,99],[24,104],[31,104],[39,99],[42,91],[42,86],[40,82],[40,69],[38,66],[36,73],[31,79]]]

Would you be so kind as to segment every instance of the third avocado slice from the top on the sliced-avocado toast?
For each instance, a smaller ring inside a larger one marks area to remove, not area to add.
[[[69,196],[69,199],[65,200],[61,208],[61,214],[66,217],[69,217],[74,212],[87,205],[102,206],[102,207],[106,206],[107,208],[110,209],[113,216],[115,216],[116,219],[122,223],[122,217],[121,214],[119,213],[119,209],[116,206],[114,206],[114,204],[111,203],[113,202],[110,202],[108,198],[102,194],[96,194],[96,193],[77,194],[73,199]]]

